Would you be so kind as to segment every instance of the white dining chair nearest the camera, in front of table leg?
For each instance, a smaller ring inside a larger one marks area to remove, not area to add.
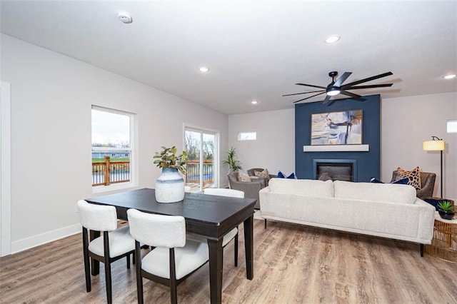
[[[163,216],[136,209],[127,211],[135,239],[136,292],[143,303],[143,278],[170,287],[171,303],[177,303],[177,286],[209,260],[208,245],[186,240],[182,216]],[[140,243],[154,247],[141,259]]]

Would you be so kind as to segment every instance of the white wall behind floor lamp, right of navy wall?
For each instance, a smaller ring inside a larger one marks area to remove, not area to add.
[[[390,181],[398,166],[436,173],[434,196],[440,195],[440,152],[423,151],[423,141],[443,138],[443,197],[457,198],[457,133],[446,133],[446,121],[457,119],[457,92],[382,101],[381,174]]]

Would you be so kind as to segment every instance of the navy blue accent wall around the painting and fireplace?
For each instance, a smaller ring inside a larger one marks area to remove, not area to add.
[[[322,101],[300,103],[295,106],[295,172],[298,178],[315,178],[313,159],[356,159],[358,182],[369,182],[381,176],[381,96],[363,96],[361,102],[352,98],[340,99],[331,106]],[[362,143],[370,145],[368,152],[303,152],[311,143],[311,114],[363,110]]]

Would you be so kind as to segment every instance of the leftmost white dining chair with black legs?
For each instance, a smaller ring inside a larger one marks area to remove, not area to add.
[[[101,206],[82,200],[76,205],[83,227],[86,291],[91,291],[91,258],[105,264],[106,300],[112,303],[111,263],[126,257],[127,268],[130,268],[130,255],[134,255],[135,240],[129,233],[129,226],[117,229],[117,213],[114,206]],[[103,235],[89,242],[89,230],[103,232]]]

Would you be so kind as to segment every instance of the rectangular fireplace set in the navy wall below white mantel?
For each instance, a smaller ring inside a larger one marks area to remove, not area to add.
[[[356,159],[313,159],[314,179],[357,181]]]

